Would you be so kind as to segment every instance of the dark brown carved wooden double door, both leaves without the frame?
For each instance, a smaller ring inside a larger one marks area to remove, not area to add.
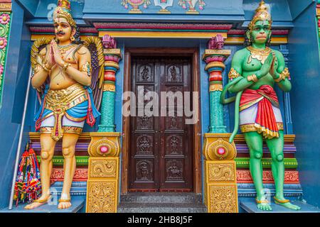
[[[184,103],[189,95],[192,110],[191,58],[132,57],[131,72],[137,105],[136,116],[130,117],[129,192],[193,191],[193,125],[186,124]],[[148,92],[159,96],[153,107],[150,101],[155,98]],[[170,102],[161,92],[168,96],[172,92],[179,99]],[[139,100],[139,94],[146,100]],[[141,109],[153,113],[158,109],[159,114],[150,116]]]

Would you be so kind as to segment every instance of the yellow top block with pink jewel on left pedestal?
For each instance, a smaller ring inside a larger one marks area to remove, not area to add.
[[[120,133],[90,133],[90,157],[119,157]]]

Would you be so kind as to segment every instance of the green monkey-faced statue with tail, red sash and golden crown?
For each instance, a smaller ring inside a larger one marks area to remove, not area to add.
[[[235,101],[235,130],[230,143],[240,125],[250,150],[250,172],[257,192],[257,208],[272,210],[262,184],[262,143],[265,140],[272,156],[276,191],[274,202],[288,209],[299,210],[299,206],[291,204],[283,193],[283,121],[274,85],[277,84],[284,92],[290,92],[292,84],[282,53],[268,47],[272,35],[271,25],[270,13],[265,2],[261,1],[246,32],[246,48],[235,52],[233,57],[230,82],[223,90],[221,102],[228,104]],[[227,92],[237,93],[237,96],[225,99]]]

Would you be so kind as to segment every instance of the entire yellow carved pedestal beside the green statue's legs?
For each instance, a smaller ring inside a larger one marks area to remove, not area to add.
[[[238,189],[235,167],[235,143],[230,134],[206,133],[205,204],[208,213],[238,213]]]

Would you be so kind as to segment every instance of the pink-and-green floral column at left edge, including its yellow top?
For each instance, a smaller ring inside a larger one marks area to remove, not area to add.
[[[6,69],[7,45],[11,25],[11,0],[0,0],[0,108],[2,89],[4,87],[4,74]]]

